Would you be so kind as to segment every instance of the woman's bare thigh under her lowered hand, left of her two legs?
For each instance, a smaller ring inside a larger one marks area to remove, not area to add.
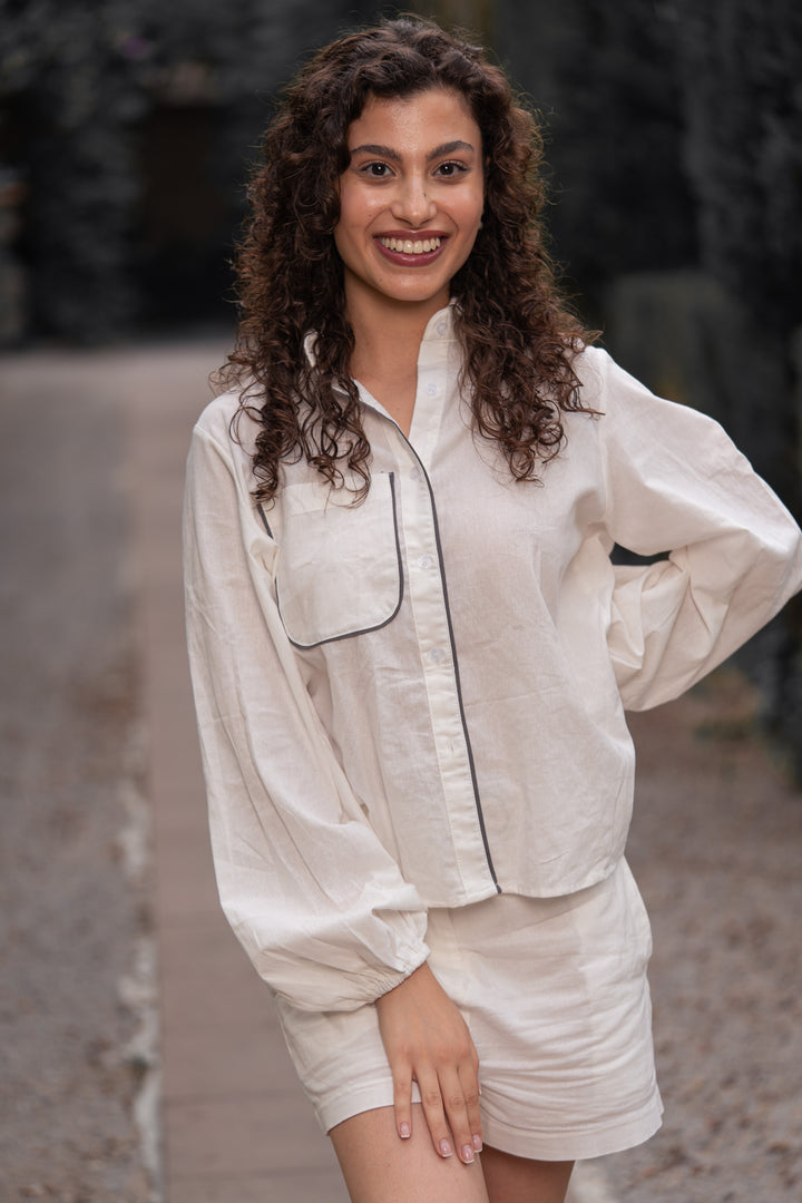
[[[479,1157],[473,1166],[439,1157],[420,1103],[408,1140],[398,1138],[392,1107],[352,1115],[329,1136],[352,1203],[488,1203]]]

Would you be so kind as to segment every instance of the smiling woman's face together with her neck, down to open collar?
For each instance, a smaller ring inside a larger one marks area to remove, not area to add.
[[[459,93],[430,88],[369,96],[347,149],[334,245],[356,336],[351,372],[409,433],[417,372],[406,339],[420,344],[474,248],[485,203],[482,135]]]

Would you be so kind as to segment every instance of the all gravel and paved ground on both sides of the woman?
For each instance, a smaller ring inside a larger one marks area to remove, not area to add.
[[[0,740],[28,765],[4,776],[0,819],[17,915],[0,961],[2,1203],[347,1203],[210,865],[179,517],[189,433],[224,351],[195,339],[0,361],[0,468],[17,499],[2,526],[17,586],[0,598],[19,633],[2,645],[14,698]],[[85,563],[87,543],[106,559]],[[755,739],[756,705],[725,670],[634,716],[630,860],[655,930],[666,1125],[578,1167],[572,1203],[802,1197],[802,796]],[[42,824],[63,786],[30,765],[61,765],[66,748],[71,793]]]

